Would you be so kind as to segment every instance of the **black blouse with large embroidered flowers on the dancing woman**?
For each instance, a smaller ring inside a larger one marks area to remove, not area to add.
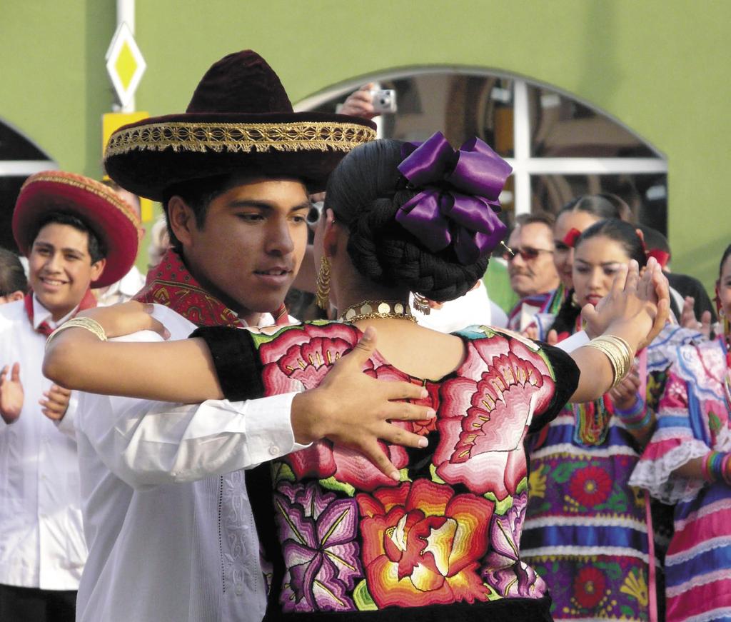
[[[276,330],[276,329],[273,329]],[[202,329],[224,395],[317,387],[357,343],[356,327],[314,322],[276,332]],[[577,386],[564,352],[471,327],[466,358],[438,381],[377,352],[366,373],[428,389],[436,420],[404,422],[425,449],[385,445],[398,482],[330,441],[247,473],[265,554],[273,562],[268,620],[548,620],[546,585],[518,553],[528,501],[523,440]],[[557,380],[558,379],[558,380]],[[273,496],[272,496],[273,491]],[[323,615],[327,612],[327,615]]]

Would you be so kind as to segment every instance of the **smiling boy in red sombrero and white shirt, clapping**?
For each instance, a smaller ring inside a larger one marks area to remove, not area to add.
[[[86,560],[76,398],[42,376],[43,351],[56,325],[95,305],[90,287],[129,270],[138,227],[81,175],[39,172],[20,189],[12,231],[32,291],[0,307],[0,620],[75,617]]]

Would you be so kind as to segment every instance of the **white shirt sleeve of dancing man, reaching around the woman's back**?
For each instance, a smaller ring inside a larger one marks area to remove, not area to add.
[[[289,414],[295,395],[191,405],[83,394],[80,428],[132,488],[192,482],[300,449]]]

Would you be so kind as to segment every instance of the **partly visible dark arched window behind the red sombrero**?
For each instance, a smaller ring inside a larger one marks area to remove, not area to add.
[[[12,239],[11,221],[20,186],[29,175],[41,170],[56,169],[53,162],[29,138],[0,121],[0,246],[18,251]]]

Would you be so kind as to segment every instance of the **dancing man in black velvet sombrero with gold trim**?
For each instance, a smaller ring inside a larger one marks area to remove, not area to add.
[[[119,129],[107,172],[163,202],[173,241],[140,300],[164,306],[154,316],[172,338],[197,326],[286,323],[308,192],[374,137],[370,121],[293,113],[279,77],[251,50],[213,64],[186,113]],[[318,394],[329,396],[327,408],[311,392],[184,407],[84,395],[78,438],[90,553],[79,619],[259,621],[265,569],[249,505],[255,491],[242,469],[326,434],[330,413],[340,425],[345,412],[352,420],[349,446],[376,445],[361,422],[382,421],[390,405],[379,389],[361,393],[336,384]],[[399,397],[419,394],[412,386]],[[424,418],[409,409],[409,418]]]

